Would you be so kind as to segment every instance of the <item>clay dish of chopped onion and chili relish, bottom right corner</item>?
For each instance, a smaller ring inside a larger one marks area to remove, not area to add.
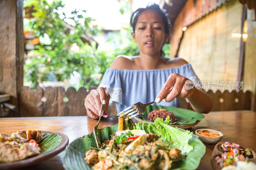
[[[256,153],[247,146],[231,142],[215,145],[211,165],[213,169],[256,169]]]

